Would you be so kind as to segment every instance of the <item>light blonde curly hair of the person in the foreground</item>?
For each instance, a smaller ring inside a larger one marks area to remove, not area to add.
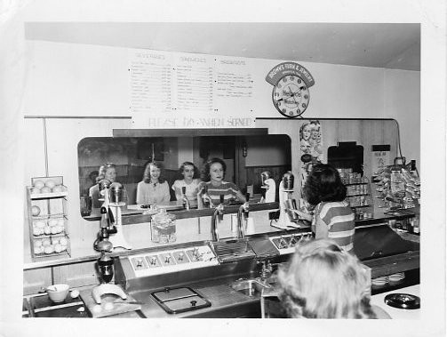
[[[289,317],[377,318],[366,270],[331,240],[300,245],[291,262],[279,270],[278,281]]]

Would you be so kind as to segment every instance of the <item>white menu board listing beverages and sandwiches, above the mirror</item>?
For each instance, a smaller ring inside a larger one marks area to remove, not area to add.
[[[249,63],[243,58],[130,50],[132,116],[238,116],[254,120]]]

